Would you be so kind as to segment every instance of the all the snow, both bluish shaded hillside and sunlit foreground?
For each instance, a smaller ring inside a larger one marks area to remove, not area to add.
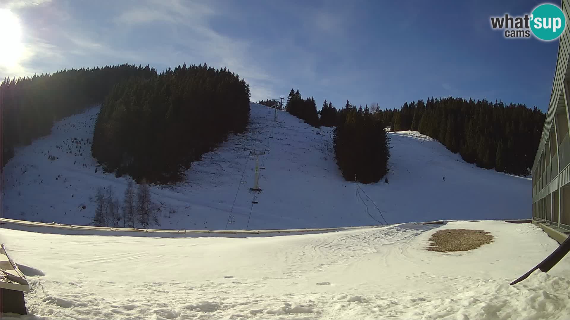
[[[16,150],[4,168],[4,218],[86,225],[97,187],[122,196],[128,178],[103,173],[89,151],[97,112],[59,121],[50,136]],[[193,163],[184,181],[151,188],[162,208],[161,225],[151,227],[205,233],[4,224],[0,242],[31,286],[31,314],[4,319],[569,317],[570,257],[508,285],[557,247],[535,225],[500,221],[530,218],[530,179],[465,163],[420,133],[390,132],[389,183],[357,185],[337,169],[331,128],[283,111],[274,122],[273,114],[252,103],[246,133]],[[251,150],[264,152],[259,193],[249,190]],[[391,225],[378,226],[380,211]],[[235,224],[227,224],[230,212]],[[410,222],[439,219],[478,221]],[[376,227],[207,233],[363,225]],[[426,251],[447,228],[482,229],[494,241]]]

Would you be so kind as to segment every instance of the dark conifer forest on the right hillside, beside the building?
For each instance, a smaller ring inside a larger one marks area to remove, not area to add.
[[[413,130],[486,169],[528,175],[546,115],[536,106],[454,97],[405,102],[377,114],[392,131]]]

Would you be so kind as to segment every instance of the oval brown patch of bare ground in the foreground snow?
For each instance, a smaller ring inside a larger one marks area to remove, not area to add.
[[[491,243],[494,236],[483,230],[445,229],[435,232],[427,251],[454,252],[477,249],[484,244]]]

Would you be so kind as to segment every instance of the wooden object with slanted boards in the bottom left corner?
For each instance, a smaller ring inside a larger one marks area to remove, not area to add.
[[[27,314],[24,292],[30,291],[26,276],[0,245],[0,313]]]

